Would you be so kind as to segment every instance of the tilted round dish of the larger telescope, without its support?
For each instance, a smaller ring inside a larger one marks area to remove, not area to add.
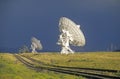
[[[72,20],[61,17],[59,21],[60,31],[65,29],[69,31],[72,35],[73,41],[70,41],[70,44],[73,46],[84,46],[85,45],[85,37],[83,32],[80,30],[80,25],[75,24]]]

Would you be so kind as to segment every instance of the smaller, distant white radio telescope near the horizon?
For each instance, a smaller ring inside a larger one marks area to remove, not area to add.
[[[32,37],[31,42],[32,42],[31,49],[33,53],[35,52],[37,53],[35,49],[42,50],[43,47],[42,47],[40,40],[36,39],[35,37]]]

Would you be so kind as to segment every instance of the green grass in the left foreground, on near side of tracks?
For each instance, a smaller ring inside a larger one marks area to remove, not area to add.
[[[9,53],[0,53],[0,79],[84,79],[54,72],[36,72],[27,68]]]

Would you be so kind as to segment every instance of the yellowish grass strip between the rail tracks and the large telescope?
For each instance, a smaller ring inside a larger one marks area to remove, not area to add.
[[[58,53],[24,54],[47,64],[120,70],[120,52],[88,52],[61,55]]]

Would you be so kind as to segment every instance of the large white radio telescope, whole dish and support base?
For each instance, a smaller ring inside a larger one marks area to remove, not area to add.
[[[75,24],[73,21],[66,17],[61,17],[59,21],[59,35],[58,45],[61,45],[61,54],[74,53],[70,48],[73,46],[84,46],[85,37],[83,32],[80,30],[80,25]]]

